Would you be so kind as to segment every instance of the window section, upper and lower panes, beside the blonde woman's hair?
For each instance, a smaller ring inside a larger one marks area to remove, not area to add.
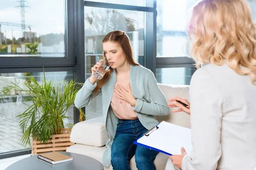
[[[186,57],[188,10],[195,0],[157,0],[157,82],[189,85],[195,71]]]

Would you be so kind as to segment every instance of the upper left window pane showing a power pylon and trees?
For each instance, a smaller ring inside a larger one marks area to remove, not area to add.
[[[0,21],[0,57],[65,57],[64,1],[2,3],[0,16],[6,17]]]

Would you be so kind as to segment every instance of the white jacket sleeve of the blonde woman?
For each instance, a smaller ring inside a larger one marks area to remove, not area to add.
[[[200,68],[189,93],[192,152],[183,157],[182,170],[216,170],[221,157],[221,92],[211,74]]]

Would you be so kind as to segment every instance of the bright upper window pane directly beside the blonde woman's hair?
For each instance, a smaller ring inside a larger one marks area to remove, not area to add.
[[[157,0],[157,57],[187,54],[188,10],[195,0]]]

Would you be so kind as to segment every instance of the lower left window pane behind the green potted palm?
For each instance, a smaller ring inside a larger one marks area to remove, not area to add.
[[[61,83],[62,87],[68,80],[73,79],[73,72],[46,72],[45,75],[47,81],[51,80],[56,85]],[[44,82],[44,74],[41,72],[0,74],[0,88],[12,85],[12,82],[22,88],[26,88],[24,82],[31,76],[35,77],[39,84]],[[0,94],[1,98],[2,96]],[[22,131],[20,130],[19,120],[15,116],[26,111],[31,104],[32,101],[28,100],[27,94],[18,94],[15,92],[10,96],[5,96],[3,101],[0,102],[0,153],[24,149],[24,146],[20,142]],[[64,125],[73,124],[73,106],[67,111],[66,116],[69,119],[64,119]],[[29,148],[29,146],[26,146],[26,148]]]

